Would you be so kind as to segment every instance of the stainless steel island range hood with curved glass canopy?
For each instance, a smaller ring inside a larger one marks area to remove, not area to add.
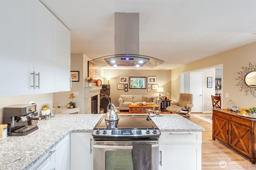
[[[140,55],[139,13],[115,12],[114,55],[91,60],[98,67],[104,66],[155,66],[164,61]]]

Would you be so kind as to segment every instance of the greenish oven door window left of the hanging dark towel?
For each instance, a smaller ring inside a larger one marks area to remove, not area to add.
[[[132,170],[132,150],[107,150],[105,170]]]

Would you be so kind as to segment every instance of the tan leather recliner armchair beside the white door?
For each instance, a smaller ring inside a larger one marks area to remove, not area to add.
[[[181,114],[184,117],[190,117],[191,108],[193,106],[193,94],[180,93],[179,102],[171,102],[171,106],[166,107],[166,110],[171,113]]]

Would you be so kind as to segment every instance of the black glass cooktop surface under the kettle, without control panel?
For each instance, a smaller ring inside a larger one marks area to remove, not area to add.
[[[115,123],[113,127],[109,123]],[[105,115],[101,117],[94,129],[158,129],[154,121],[148,115],[119,115],[119,120],[105,121]]]

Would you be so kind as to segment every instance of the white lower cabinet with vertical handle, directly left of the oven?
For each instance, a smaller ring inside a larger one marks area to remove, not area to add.
[[[70,133],[70,170],[93,170],[91,132]]]

